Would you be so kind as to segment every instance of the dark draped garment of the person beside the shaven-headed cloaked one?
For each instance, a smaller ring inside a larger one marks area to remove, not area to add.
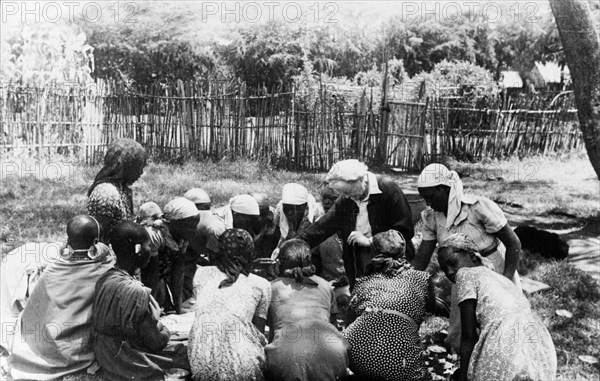
[[[120,269],[96,284],[93,306],[94,353],[110,380],[163,380],[163,370],[187,368],[185,353],[160,352],[168,341],[159,328],[150,289]]]

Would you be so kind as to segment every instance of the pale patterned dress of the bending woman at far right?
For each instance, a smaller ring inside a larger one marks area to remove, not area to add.
[[[475,314],[481,329],[469,362],[469,380],[556,378],[552,338],[514,283],[478,266],[460,269],[456,288],[458,303],[477,301]]]

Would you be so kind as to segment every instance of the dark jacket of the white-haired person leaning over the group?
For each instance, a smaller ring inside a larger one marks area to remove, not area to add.
[[[399,231],[406,240],[407,256],[410,257],[415,250],[411,241],[415,228],[410,205],[392,178],[376,176],[376,179],[381,193],[369,195],[367,205],[371,234],[374,236],[390,229]],[[371,248],[348,244],[348,236],[356,230],[358,213],[358,205],[354,200],[338,197],[323,217],[307,228],[301,229],[297,237],[313,248],[338,233],[344,246],[344,267],[351,286],[356,278],[365,274],[366,266],[373,257]]]

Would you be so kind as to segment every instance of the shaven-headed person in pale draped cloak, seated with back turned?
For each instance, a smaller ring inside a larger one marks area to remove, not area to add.
[[[91,216],[72,218],[61,256],[50,261],[18,319],[11,356],[14,379],[51,380],[94,361],[92,301],[97,280],[114,265]]]

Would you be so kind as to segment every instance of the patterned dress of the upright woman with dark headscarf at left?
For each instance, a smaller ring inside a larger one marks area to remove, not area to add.
[[[87,209],[92,217],[100,217],[105,224],[104,236],[108,237],[117,223],[133,219],[131,189],[117,183],[100,183],[88,197]]]

